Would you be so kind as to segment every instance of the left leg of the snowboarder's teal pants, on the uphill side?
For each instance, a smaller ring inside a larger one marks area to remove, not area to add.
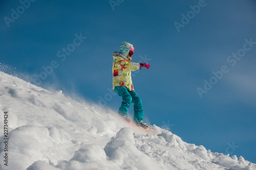
[[[128,108],[130,107],[131,103],[132,103],[132,96],[130,95],[129,91],[127,90],[126,87],[124,86],[116,86],[114,91],[122,97],[122,103],[121,106],[118,110],[118,114],[120,115],[127,115],[128,112]]]

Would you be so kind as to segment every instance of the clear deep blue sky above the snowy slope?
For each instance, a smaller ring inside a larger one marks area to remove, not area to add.
[[[256,163],[255,1],[21,2],[0,3],[2,71],[118,110],[112,53],[130,42],[151,65],[133,74],[145,122]]]

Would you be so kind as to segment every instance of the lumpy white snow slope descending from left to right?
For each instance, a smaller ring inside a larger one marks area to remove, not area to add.
[[[159,135],[135,132],[110,109],[76,102],[4,72],[0,110],[0,169],[256,169],[243,157],[211,153],[155,125],[149,128]]]

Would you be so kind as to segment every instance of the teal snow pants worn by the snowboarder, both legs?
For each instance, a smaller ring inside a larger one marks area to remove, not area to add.
[[[142,109],[142,101],[135,90],[129,91],[124,86],[116,86],[114,91],[122,97],[123,101],[118,110],[118,114],[127,116],[128,108],[134,103],[134,121],[140,122],[143,119],[144,111]]]

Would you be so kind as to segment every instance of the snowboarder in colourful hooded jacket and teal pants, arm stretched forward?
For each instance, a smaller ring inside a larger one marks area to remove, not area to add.
[[[134,122],[137,126],[147,128],[148,125],[143,123],[144,111],[142,109],[142,101],[135,92],[131,71],[140,69],[141,67],[150,68],[147,63],[133,63],[132,55],[134,53],[134,46],[128,42],[123,42],[120,46],[120,52],[113,53],[113,90],[122,97],[122,103],[118,110],[118,114],[124,120],[130,122],[127,115],[128,108],[131,103],[134,103]]]

